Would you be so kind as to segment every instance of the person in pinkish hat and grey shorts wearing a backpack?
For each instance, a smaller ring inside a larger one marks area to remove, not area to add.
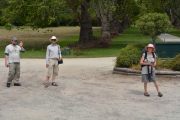
[[[147,91],[147,83],[153,82],[156,90],[158,92],[158,96],[162,97],[163,94],[159,91],[159,86],[155,79],[155,67],[156,67],[156,59],[157,56],[155,54],[155,47],[153,44],[148,44],[145,48],[145,52],[143,53],[140,64],[142,67],[142,82],[144,83],[144,96],[149,97],[150,94]]]

